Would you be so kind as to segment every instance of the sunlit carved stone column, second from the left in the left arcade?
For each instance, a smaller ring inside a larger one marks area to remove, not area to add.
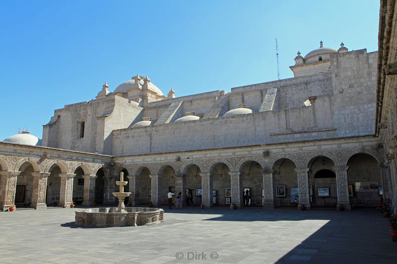
[[[33,192],[32,204],[30,207],[34,209],[46,209],[46,191],[47,179],[50,176],[49,172],[32,172],[33,176]]]

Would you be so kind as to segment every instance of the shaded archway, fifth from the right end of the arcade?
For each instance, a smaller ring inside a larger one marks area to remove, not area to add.
[[[215,205],[217,206],[230,206],[231,204],[232,192],[229,172],[230,168],[223,162],[217,162],[209,169],[212,189],[216,192]]]

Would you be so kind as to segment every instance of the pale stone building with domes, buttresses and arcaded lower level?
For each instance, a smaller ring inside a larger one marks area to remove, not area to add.
[[[55,110],[41,142],[0,142],[2,209],[113,204],[121,171],[134,206],[163,205],[169,190],[186,203],[186,189],[206,208],[240,208],[246,190],[265,209],[396,206],[376,125],[378,52],[320,42],[290,68],[293,78],[184,97],[138,74],[114,92],[105,82],[95,100]]]

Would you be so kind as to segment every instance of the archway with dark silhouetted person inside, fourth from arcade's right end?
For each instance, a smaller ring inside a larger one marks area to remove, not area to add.
[[[263,204],[263,168],[257,161],[244,162],[239,171],[242,177],[244,206],[262,206]]]

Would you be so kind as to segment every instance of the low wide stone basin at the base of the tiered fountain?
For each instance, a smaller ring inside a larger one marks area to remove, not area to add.
[[[164,221],[164,210],[159,208],[126,207],[125,210],[126,212],[117,212],[117,207],[79,210],[76,211],[75,224],[111,227],[158,224]]]

